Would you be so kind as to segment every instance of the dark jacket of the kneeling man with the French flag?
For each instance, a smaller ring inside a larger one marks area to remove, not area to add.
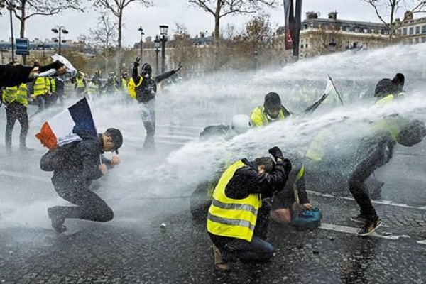
[[[53,171],[52,183],[58,188],[88,187],[92,180],[102,177],[98,166],[102,139],[85,136],[80,142],[70,143],[48,151],[40,160],[40,168]]]

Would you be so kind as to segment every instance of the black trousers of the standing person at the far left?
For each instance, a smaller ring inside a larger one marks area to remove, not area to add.
[[[19,138],[19,146],[26,148],[26,136],[28,134],[28,113],[26,106],[18,102],[11,102],[6,109],[6,148],[12,147],[12,133],[15,122],[21,124],[21,136]]]

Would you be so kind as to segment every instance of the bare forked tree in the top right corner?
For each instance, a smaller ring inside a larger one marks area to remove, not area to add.
[[[389,30],[389,42],[392,43],[395,31],[403,25],[404,21],[415,13],[426,12],[426,1],[420,0],[361,0],[370,4],[379,20]],[[398,15],[403,12],[403,19]],[[405,13],[408,12],[408,13]]]

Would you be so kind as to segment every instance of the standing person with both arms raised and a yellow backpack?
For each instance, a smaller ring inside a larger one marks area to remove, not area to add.
[[[143,149],[155,151],[155,94],[157,94],[157,84],[174,75],[182,66],[179,63],[176,70],[171,70],[156,77],[152,77],[153,70],[148,63],[142,65],[141,74],[139,74],[138,67],[140,60],[140,58],[136,58],[133,64],[133,73],[128,87],[131,97],[136,99],[139,103],[141,119],[146,129]]]

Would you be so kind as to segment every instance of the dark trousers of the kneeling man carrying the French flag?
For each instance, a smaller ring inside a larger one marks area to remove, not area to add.
[[[101,197],[88,187],[55,187],[58,195],[77,206],[58,206],[62,217],[84,219],[97,222],[108,222],[114,218],[114,212]]]

